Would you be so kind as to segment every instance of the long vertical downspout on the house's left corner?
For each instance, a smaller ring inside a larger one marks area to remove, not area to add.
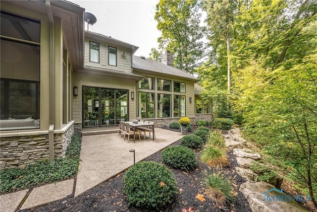
[[[48,18],[50,21],[50,128],[49,128],[49,152],[50,161],[54,160],[54,20],[51,10],[51,3],[49,0],[45,1],[46,12],[48,13]]]

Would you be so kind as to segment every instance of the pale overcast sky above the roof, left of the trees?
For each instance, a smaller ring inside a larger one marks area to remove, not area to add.
[[[89,31],[138,46],[136,56],[149,57],[161,35],[154,19],[159,0],[69,0],[94,14],[97,22]],[[85,22],[85,30],[87,23]]]

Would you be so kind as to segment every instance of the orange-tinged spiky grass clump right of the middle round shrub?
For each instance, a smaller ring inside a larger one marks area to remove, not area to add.
[[[229,165],[225,149],[221,149],[217,146],[207,146],[204,148],[200,159],[203,163],[214,167]]]

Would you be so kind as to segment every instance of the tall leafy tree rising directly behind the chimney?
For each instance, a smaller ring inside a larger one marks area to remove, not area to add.
[[[161,50],[174,54],[176,68],[193,73],[204,53],[198,1],[159,0],[156,8],[155,19],[162,32],[158,38]]]

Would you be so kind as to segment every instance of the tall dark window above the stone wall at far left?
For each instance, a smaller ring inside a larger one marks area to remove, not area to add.
[[[40,21],[1,11],[1,130],[40,127]]]

